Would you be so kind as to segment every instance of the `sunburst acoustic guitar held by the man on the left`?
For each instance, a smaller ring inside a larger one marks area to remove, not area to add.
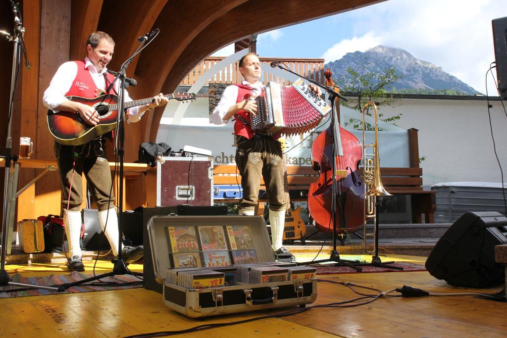
[[[178,101],[195,100],[194,93],[172,93],[164,95],[168,99]],[[90,142],[94,138],[112,131],[116,128],[118,118],[118,96],[105,94],[95,98],[84,98],[80,96],[66,96],[74,102],[89,105],[97,110],[100,120],[96,126],[89,125],[74,111],[48,110],[48,128],[56,142],[65,145],[81,145]],[[141,104],[149,104],[154,101],[153,97],[125,102],[125,109]]]

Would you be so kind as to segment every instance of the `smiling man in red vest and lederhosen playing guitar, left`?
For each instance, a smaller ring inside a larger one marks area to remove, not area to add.
[[[49,87],[44,92],[43,102],[54,111],[75,111],[90,126],[99,123],[99,114],[92,106],[70,101],[65,96],[97,97],[117,94],[119,83],[110,86],[114,77],[107,72],[106,65],[113,57],[115,43],[104,32],[92,33],[86,42],[87,57],[83,61],[63,63],[56,71]],[[125,102],[131,101],[127,91]],[[160,93],[153,102],[128,109],[128,122],[137,122],[147,110],[164,105],[168,98]],[[113,254],[118,255],[118,218],[114,207],[111,170],[103,147],[102,135],[79,145],[63,145],[55,142],[55,156],[58,163],[63,190],[62,208],[65,232],[69,244],[68,267],[84,271],[79,238],[81,233],[81,203],[83,201],[82,174],[85,174],[91,193],[98,208],[99,222]],[[124,247],[122,256],[126,263],[142,257],[142,246]]]

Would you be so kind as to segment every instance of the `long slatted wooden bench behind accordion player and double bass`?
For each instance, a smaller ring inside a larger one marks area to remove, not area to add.
[[[363,173],[359,169],[358,174]],[[437,209],[435,192],[422,189],[422,168],[380,168],[382,184],[392,195],[411,196],[412,222],[421,223],[422,214],[426,223],[433,222],[433,213]],[[310,183],[315,182],[318,172],[309,166],[287,166],[287,183],[292,201],[306,201]],[[241,184],[241,176],[234,165],[215,165],[213,168],[213,184]],[[261,180],[261,190],[265,189]],[[305,193],[306,192],[306,193]],[[222,199],[223,202],[237,202],[238,199]],[[259,202],[267,202],[266,198],[259,198]],[[262,209],[262,206],[260,207]],[[258,213],[261,210],[258,211]]]

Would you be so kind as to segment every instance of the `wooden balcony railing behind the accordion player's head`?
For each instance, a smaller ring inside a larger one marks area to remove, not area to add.
[[[202,74],[222,61],[224,57],[208,57],[201,61],[194,69],[192,69],[181,82],[183,86],[192,86]],[[260,58],[261,63],[268,64],[272,61],[285,63],[291,70],[300,74],[305,78],[324,83],[324,59],[296,59],[296,58]],[[210,79],[206,79],[208,83],[224,83],[234,84],[241,82],[241,73],[238,69],[238,62],[235,62],[225,68],[222,68],[214,74]],[[269,81],[284,83],[289,85],[290,82],[285,79],[278,78],[266,71],[263,72],[262,80],[266,85]]]

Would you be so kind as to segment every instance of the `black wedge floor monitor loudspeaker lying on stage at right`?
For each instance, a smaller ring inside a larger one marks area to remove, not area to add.
[[[504,280],[495,246],[507,243],[507,218],[498,212],[467,212],[431,250],[426,269],[454,286],[486,287]]]

